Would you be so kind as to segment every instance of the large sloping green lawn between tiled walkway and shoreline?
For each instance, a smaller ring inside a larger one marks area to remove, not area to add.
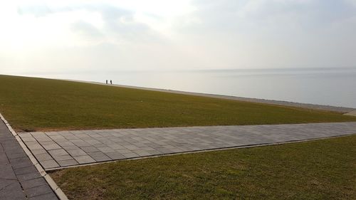
[[[356,121],[306,110],[0,75],[0,112],[19,131]]]

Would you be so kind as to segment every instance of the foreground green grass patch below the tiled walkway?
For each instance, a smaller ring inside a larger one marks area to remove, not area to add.
[[[69,199],[356,199],[356,135],[62,169]]]

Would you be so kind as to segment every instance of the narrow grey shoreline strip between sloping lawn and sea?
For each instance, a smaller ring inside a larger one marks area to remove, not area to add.
[[[105,84],[95,81],[86,81],[86,80],[71,80],[71,79],[58,79],[58,80],[67,80],[72,82],[78,83],[91,83],[97,85],[108,85],[112,87],[120,87],[120,88],[132,88],[132,89],[139,89],[139,90],[151,90],[163,93],[174,93],[174,94],[182,94],[182,95],[194,95],[194,96],[201,96],[201,97],[208,97],[208,98],[220,98],[226,100],[240,100],[246,102],[260,102],[266,103],[271,105],[283,105],[283,106],[293,106],[293,107],[304,107],[309,109],[315,110],[326,110],[326,111],[333,111],[333,112],[352,112],[355,111],[356,108],[352,107],[337,107],[332,105],[317,105],[317,104],[310,104],[310,103],[302,103],[302,102],[288,102],[283,100],[266,100],[266,99],[258,99],[258,98],[243,98],[243,97],[236,97],[236,96],[229,96],[229,95],[216,95],[216,94],[208,94],[208,93],[194,93],[194,92],[185,92],[180,90],[167,90],[167,89],[159,89],[159,88],[145,88],[140,86],[130,86],[130,85],[120,85],[120,84]]]

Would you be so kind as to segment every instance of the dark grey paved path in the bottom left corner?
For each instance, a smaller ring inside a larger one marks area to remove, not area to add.
[[[2,120],[0,120],[0,199],[57,199]]]

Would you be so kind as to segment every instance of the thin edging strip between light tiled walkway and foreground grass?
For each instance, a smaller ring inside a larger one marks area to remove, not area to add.
[[[291,144],[291,143],[293,144],[293,143],[297,143],[297,142],[309,142],[309,141],[313,141],[313,140],[325,140],[325,139],[331,139],[331,138],[337,138],[337,137],[347,137],[347,136],[350,136],[350,135],[356,135],[356,133],[345,134],[345,135],[336,135],[336,136],[328,136],[328,137],[318,137],[318,138],[311,138],[311,139],[305,139],[305,140],[290,140],[290,141],[287,141],[287,142],[246,144],[246,145],[240,145],[240,146],[234,146],[234,147],[222,147],[222,148],[214,148],[214,149],[201,149],[201,150],[195,150],[195,151],[189,151],[189,152],[177,152],[177,153],[157,154],[157,155],[153,155],[153,156],[133,157],[133,158],[127,158],[127,159],[115,159],[115,160],[103,161],[103,162],[76,164],[76,165],[70,165],[70,166],[66,166],[66,167],[48,168],[48,169],[46,169],[46,172],[53,172],[53,171],[60,170],[60,169],[68,169],[68,168],[74,168],[74,167],[92,166],[92,165],[105,164],[105,163],[111,163],[111,162],[120,162],[120,161],[125,161],[125,160],[150,159],[150,158],[155,158],[155,157],[168,157],[168,156],[174,156],[174,155],[179,155],[179,154],[194,154],[194,153],[201,153],[201,152],[224,151],[224,150],[229,150],[229,149],[244,149],[244,148],[253,148],[253,147],[266,147],[266,146],[279,145],[279,144]]]

